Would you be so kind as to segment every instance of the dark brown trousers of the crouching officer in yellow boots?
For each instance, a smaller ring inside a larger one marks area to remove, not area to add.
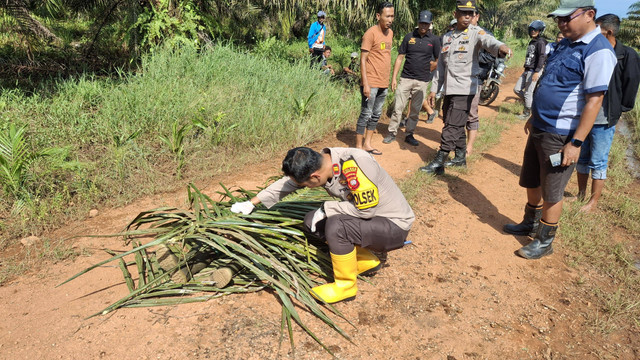
[[[311,228],[314,213],[315,210],[304,218],[307,230]],[[352,252],[355,245],[376,252],[399,249],[409,232],[385,217],[362,219],[339,214],[318,222],[314,235],[325,239],[332,254],[344,255]]]

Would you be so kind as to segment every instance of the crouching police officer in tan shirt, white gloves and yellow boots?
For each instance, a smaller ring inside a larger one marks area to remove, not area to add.
[[[311,294],[327,303],[354,299],[357,276],[380,268],[371,251],[402,247],[415,219],[413,210],[391,176],[362,149],[294,148],[282,161],[282,171],[285,177],[231,211],[249,214],[255,205],[270,208],[300,188],[324,187],[340,200],[308,213],[305,225],[327,241],[335,282],[316,286]]]

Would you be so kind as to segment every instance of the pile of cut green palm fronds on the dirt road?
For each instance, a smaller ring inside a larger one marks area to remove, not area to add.
[[[189,210],[162,207],[141,212],[122,233],[111,235],[123,236],[133,246],[131,250],[110,252],[111,258],[64,283],[106,263],[119,263],[129,294],[92,316],[123,307],[174,305],[271,289],[282,305],[281,332],[286,328],[292,349],[295,322],[331,353],[302,321],[295,305],[349,339],[326,309],[344,317],[331,305],[323,307],[310,294],[320,277],[328,278],[331,264],[322,245],[315,244],[317,239],[307,238],[302,231],[303,219],[328,195],[304,189],[269,210],[258,208],[243,215],[232,213],[231,204],[255,193],[223,188],[220,194],[224,198],[214,201],[189,185]],[[143,244],[145,237],[152,239]],[[136,269],[137,280],[130,267]]]

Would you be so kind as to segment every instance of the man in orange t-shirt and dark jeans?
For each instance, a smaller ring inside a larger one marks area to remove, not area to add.
[[[393,42],[393,4],[383,2],[378,6],[378,24],[362,36],[360,69],[362,73],[362,105],[356,126],[356,147],[373,155],[382,155],[371,146],[373,132],[378,126],[382,106],[387,97],[391,72],[391,45]]]

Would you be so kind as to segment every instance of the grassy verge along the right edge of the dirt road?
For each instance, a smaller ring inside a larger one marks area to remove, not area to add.
[[[574,201],[565,204],[560,220],[559,240],[562,247],[571,250],[569,264],[610,280],[577,284],[587,296],[597,299],[598,314],[588,320],[605,334],[640,325],[640,278],[633,251],[634,239],[640,234],[640,199],[626,169],[627,146],[622,136],[614,138],[599,211],[582,213],[579,210],[585,202]]]

